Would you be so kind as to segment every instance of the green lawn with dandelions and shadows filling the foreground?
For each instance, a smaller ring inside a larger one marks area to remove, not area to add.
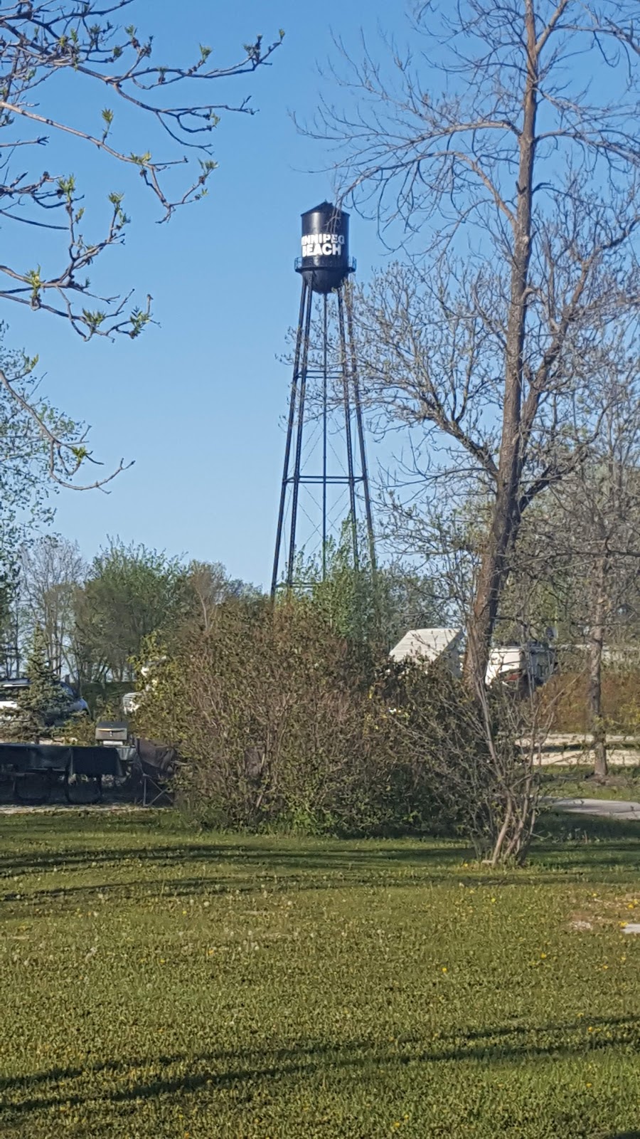
[[[638,829],[454,843],[0,819],[0,1134],[640,1134]],[[544,829],[544,825],[541,825]]]

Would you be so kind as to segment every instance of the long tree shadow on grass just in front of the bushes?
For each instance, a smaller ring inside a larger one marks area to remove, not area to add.
[[[453,839],[449,843],[380,839],[363,844],[337,839],[296,842],[279,839],[277,836],[238,836],[220,841],[220,837],[212,835],[211,842],[206,842],[189,841],[183,835],[177,835],[177,842],[167,843],[166,839],[163,842],[162,827],[159,830],[154,829],[145,819],[145,831],[154,830],[146,845],[132,845],[128,829],[132,823],[118,821],[113,843],[107,839],[100,849],[93,849],[87,844],[75,846],[73,839],[77,841],[77,834],[69,829],[60,836],[55,827],[51,828],[51,818],[46,821],[47,825],[43,826],[44,820],[39,820],[35,835],[25,825],[20,835],[24,831],[24,837],[28,836],[27,849],[0,858],[0,900],[14,902],[18,893],[23,901],[36,901],[63,899],[74,892],[75,896],[91,899],[92,894],[104,891],[131,898],[140,891],[149,896],[154,892],[173,892],[175,895],[228,890],[251,892],[262,891],[264,886],[278,891],[376,884],[384,887],[416,886],[434,878],[452,880],[453,870],[465,885],[491,888],[545,882],[557,885],[581,879],[606,883],[615,874],[637,871],[640,865],[638,822],[590,817],[569,819],[542,816],[539,821],[539,838],[533,844],[527,867],[508,872],[484,868],[479,874],[475,870],[473,874],[465,872],[463,863],[474,862],[473,852]],[[138,829],[139,821],[133,826]],[[100,837],[104,837],[101,831]],[[47,838],[50,838],[51,845],[58,839],[61,849],[39,850],[35,842],[41,844]],[[157,838],[159,843],[154,841]],[[118,846],[118,839],[125,841],[122,846]],[[194,863],[206,867],[206,872],[198,878],[177,878],[172,874],[177,867],[190,867]],[[73,884],[74,876],[84,872],[91,875],[93,870],[106,869],[107,866],[114,868],[114,876],[123,869],[125,874],[134,872],[136,866],[153,866],[153,888],[143,880]],[[30,876],[50,874],[54,869],[59,874],[60,886],[35,892],[28,888]],[[2,891],[2,878],[22,876],[27,878],[26,883]],[[64,885],[67,880],[65,876],[71,876],[68,885]]]

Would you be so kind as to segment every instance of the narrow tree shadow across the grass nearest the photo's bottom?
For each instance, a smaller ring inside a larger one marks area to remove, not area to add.
[[[235,1103],[239,1105],[243,1098],[255,1093],[256,1084],[272,1084],[274,1081],[294,1079],[296,1084],[302,1079],[326,1079],[330,1073],[345,1071],[356,1075],[362,1070],[363,1077],[375,1079],[380,1067],[441,1064],[452,1062],[471,1062],[482,1065],[493,1062],[523,1060],[544,1058],[561,1058],[579,1055],[590,1055],[597,1051],[610,1051],[617,1047],[629,1050],[630,1046],[640,1044],[640,1018],[592,1018],[591,1026],[607,1029],[608,1036],[584,1035],[584,1021],[564,1025],[545,1025],[527,1027],[514,1025],[504,1027],[487,1027],[460,1033],[456,1038],[430,1040],[424,1047],[420,1036],[412,1036],[399,1042],[395,1050],[379,1049],[368,1040],[350,1042],[317,1041],[301,1043],[290,1048],[269,1050],[212,1050],[196,1056],[188,1054],[159,1055],[157,1057],[137,1057],[136,1059],[106,1060],[84,1068],[51,1068],[48,1072],[34,1073],[30,1076],[6,1077],[0,1081],[5,1103],[0,1107],[0,1116],[13,1120],[60,1104],[67,1107],[81,1107],[97,1100],[112,1105],[126,1105],[132,1101],[155,1099],[159,1096],[189,1096],[202,1089],[215,1092],[235,1088],[240,1092],[246,1084],[246,1096],[239,1095]],[[531,1036],[531,1040],[523,1039]],[[544,1042],[536,1040],[543,1036]],[[573,1036],[574,1039],[567,1039]],[[579,1039],[575,1039],[575,1038]],[[547,1039],[550,1038],[550,1039]],[[453,1040],[453,1043],[451,1043]],[[188,1074],[173,1074],[175,1065],[188,1065]],[[149,1073],[146,1080],[128,1082],[124,1087],[113,1087],[114,1076],[121,1081],[126,1079],[131,1070],[138,1073],[140,1068],[157,1070]],[[222,1071],[221,1071],[222,1068]],[[199,1071],[198,1071],[199,1070]],[[368,1071],[367,1071],[368,1070]],[[102,1074],[109,1077],[109,1087],[101,1090],[95,1087],[95,1077]],[[71,1093],[65,1089],[66,1082],[81,1080],[83,1091]],[[55,1093],[34,1095],[43,1084],[60,1085]],[[87,1084],[91,1087],[87,1088]],[[20,1092],[25,1098],[19,1098]],[[7,1101],[8,1097],[13,1099]],[[638,1132],[618,1133],[608,1139],[631,1139]]]

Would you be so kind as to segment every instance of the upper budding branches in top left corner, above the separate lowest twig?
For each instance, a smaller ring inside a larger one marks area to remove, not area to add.
[[[5,155],[0,164],[0,214],[32,227],[67,232],[67,260],[56,273],[44,276],[40,267],[24,271],[14,264],[0,265],[0,272],[19,286],[0,289],[0,298],[63,317],[85,339],[120,333],[138,336],[150,320],[148,304],[124,316],[131,294],[97,297],[83,277],[100,253],[123,240],[129,223],[122,208],[123,195],[108,195],[110,220],[101,237],[88,239],[81,229],[85,206],[76,179],[47,170],[32,173],[20,167],[14,172],[11,167],[18,154],[25,154],[25,148],[40,150],[51,134],[73,138],[108,156],[116,166],[136,170],[161,206],[158,220],[167,221],[180,206],[197,202],[206,194],[206,183],[216,166],[211,157],[211,136],[220,113],[254,113],[248,98],[235,104],[190,101],[191,84],[232,80],[270,66],[284,36],[280,32],[271,43],[256,36],[230,65],[213,66],[214,52],[204,44],[195,58],[182,66],[156,65],[150,63],[153,39],[139,36],[132,24],[122,27],[112,19],[133,2],[122,0],[104,5],[99,0],[63,0],[57,6],[49,0],[0,2],[0,129],[7,132],[7,141],[0,142],[0,151]],[[77,84],[79,107],[83,105],[84,90],[89,95],[91,90],[102,89],[107,99],[115,100],[116,108],[122,105],[128,113],[140,116],[147,129],[154,124],[159,126],[170,147],[166,156],[157,157],[150,148],[133,153],[118,146],[115,136],[120,117],[114,106],[102,109],[93,131],[80,125],[73,113],[56,116],[52,109],[49,110],[55,106],[54,87],[44,88],[44,84],[61,72],[73,76]],[[184,90],[186,101],[167,101],[169,91],[178,91],[178,88]],[[47,92],[46,110],[40,109],[43,91]],[[20,132],[26,133],[30,128],[34,129],[33,136],[24,137]],[[178,154],[177,146],[180,148]],[[194,172],[184,150],[187,154],[195,151],[197,166]],[[173,175],[179,167],[188,171],[188,181],[175,192]],[[65,215],[63,224],[58,220],[60,213]],[[51,293],[57,294],[56,303],[44,300]],[[97,300],[98,304],[84,306],[77,303],[80,297]]]

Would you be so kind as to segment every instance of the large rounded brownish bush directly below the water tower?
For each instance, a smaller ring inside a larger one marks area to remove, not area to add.
[[[429,802],[376,682],[386,666],[305,600],[230,600],[154,675],[136,727],[179,751],[181,797],[200,821],[399,830]]]

